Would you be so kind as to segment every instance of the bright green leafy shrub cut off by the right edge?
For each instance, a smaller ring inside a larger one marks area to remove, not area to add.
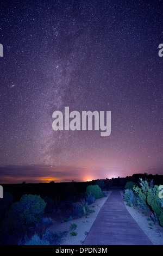
[[[163,227],[163,199],[159,198],[159,186],[155,185],[153,188],[148,188],[147,203],[151,206],[156,216],[158,216],[160,225]]]

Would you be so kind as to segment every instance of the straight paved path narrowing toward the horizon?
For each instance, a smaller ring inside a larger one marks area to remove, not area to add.
[[[119,189],[112,190],[83,245],[153,245],[124,205]]]

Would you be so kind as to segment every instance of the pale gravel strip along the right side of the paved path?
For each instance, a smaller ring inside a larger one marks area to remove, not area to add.
[[[121,191],[123,197],[123,191]],[[136,206],[128,206],[124,202],[129,214],[134,218],[140,228],[145,232],[154,245],[163,245],[163,228],[159,224],[154,224],[150,218],[151,212],[145,212]]]

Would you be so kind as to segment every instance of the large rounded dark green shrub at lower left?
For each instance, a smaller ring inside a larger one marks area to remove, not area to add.
[[[2,222],[4,233],[18,233],[27,225],[41,221],[46,203],[40,196],[24,194],[19,202],[12,203]]]

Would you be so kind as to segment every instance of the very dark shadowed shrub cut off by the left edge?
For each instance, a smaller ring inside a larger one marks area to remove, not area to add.
[[[9,192],[3,192],[3,199],[0,199],[0,219],[4,216],[5,212],[10,208],[13,202],[12,194]]]

